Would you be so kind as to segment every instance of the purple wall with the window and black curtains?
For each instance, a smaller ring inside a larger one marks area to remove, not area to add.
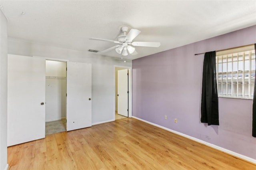
[[[252,100],[219,98],[220,126],[200,123],[204,54],[194,55],[253,43],[256,26],[133,60],[132,115],[256,159]]]

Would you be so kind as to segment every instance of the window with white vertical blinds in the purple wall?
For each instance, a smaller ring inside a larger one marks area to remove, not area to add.
[[[216,52],[218,97],[253,99],[254,45]]]

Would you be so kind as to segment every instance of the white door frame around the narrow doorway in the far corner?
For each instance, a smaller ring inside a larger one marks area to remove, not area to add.
[[[124,69],[128,69],[129,70],[129,77],[128,77],[128,89],[129,89],[129,94],[128,94],[128,117],[132,117],[132,67],[127,67],[127,66],[123,66],[123,65],[114,65],[114,107],[113,107],[113,119],[115,119],[115,112],[116,112],[116,94],[115,94],[115,90],[116,90],[116,67],[119,68],[124,68]]]

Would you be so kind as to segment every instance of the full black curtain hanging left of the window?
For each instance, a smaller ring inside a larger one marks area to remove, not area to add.
[[[208,123],[208,125],[219,125],[216,51],[204,54],[201,122]]]

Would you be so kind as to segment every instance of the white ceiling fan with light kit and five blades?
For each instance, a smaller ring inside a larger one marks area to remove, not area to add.
[[[128,34],[126,35],[126,32],[128,31],[128,27],[122,27],[121,30],[124,33],[124,35],[118,36],[117,41],[104,40],[104,39],[99,39],[99,38],[89,38],[89,39],[104,41],[104,42],[119,43],[121,45],[115,45],[114,47],[110,47],[101,52],[105,53],[112,49],[116,49],[116,52],[118,54],[122,53],[122,55],[128,55],[128,53],[130,53],[132,55],[136,55],[137,52],[135,51],[135,48],[132,46],[141,46],[141,47],[159,47],[160,46],[160,42],[132,42],[132,40],[140,34],[140,31],[136,30],[136,29],[131,29],[128,32]]]

